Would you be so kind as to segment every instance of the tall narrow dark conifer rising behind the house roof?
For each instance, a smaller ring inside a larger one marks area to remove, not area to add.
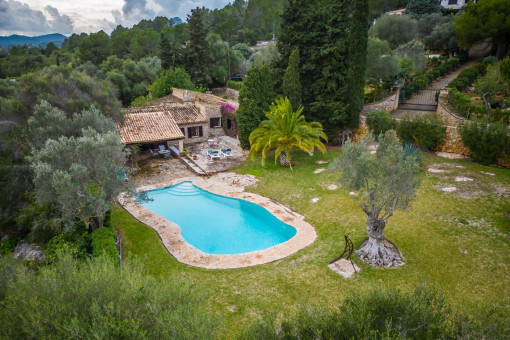
[[[212,61],[208,51],[209,45],[205,40],[207,29],[204,25],[204,9],[195,8],[188,15],[189,46],[188,73],[197,85],[207,86],[211,79],[208,76]]]

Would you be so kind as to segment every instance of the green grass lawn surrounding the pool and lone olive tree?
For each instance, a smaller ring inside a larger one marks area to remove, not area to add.
[[[247,191],[288,205],[315,227],[317,240],[293,256],[241,269],[189,267],[167,253],[154,230],[116,208],[112,217],[123,234],[124,257],[142,258],[147,273],[163,280],[193,282],[195,289],[208,296],[206,308],[222,320],[217,330],[221,338],[235,337],[243,327],[270,312],[288,317],[303,306],[335,308],[349,292],[379,287],[411,290],[423,280],[444,291],[458,308],[475,310],[480,304],[498,301],[510,308],[510,199],[494,193],[495,187],[510,190],[509,170],[424,154],[425,166],[449,164],[449,173],[425,170],[413,208],[398,211],[389,220],[385,235],[403,253],[405,266],[372,268],[353,256],[362,271],[346,280],[327,265],[343,251],[345,234],[359,247],[366,237],[366,217],[346,190],[326,189],[336,183],[338,174],[313,173],[328,165],[316,161],[331,162],[339,155],[340,151],[330,151],[311,158],[298,152],[294,154],[294,170],[279,168],[269,159],[265,167],[247,161],[235,169],[260,180]],[[456,183],[455,176],[475,181]],[[456,185],[473,198],[434,188],[447,184]],[[313,197],[321,199],[311,203]]]

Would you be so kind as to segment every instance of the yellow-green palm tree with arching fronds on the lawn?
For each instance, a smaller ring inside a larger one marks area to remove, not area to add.
[[[268,120],[260,123],[259,127],[250,134],[250,155],[252,160],[258,152],[262,151],[262,165],[264,165],[268,151],[276,148],[275,163],[280,157],[280,166],[292,169],[292,149],[297,147],[313,155],[315,147],[322,153],[326,147],[321,138],[327,141],[322,125],[317,122],[308,123],[301,114],[303,107],[299,106],[296,112],[287,97],[276,99],[269,112],[265,112]]]

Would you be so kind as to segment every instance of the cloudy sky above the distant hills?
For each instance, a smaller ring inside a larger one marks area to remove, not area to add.
[[[0,36],[11,34],[110,34],[117,25],[131,27],[141,19],[179,17],[205,6],[222,8],[229,0],[0,0]]]

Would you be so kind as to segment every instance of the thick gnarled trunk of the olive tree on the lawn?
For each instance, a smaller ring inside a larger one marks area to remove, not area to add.
[[[398,267],[403,265],[404,260],[397,247],[384,236],[386,221],[378,217],[379,212],[377,210],[365,211],[365,213],[368,216],[366,226],[368,238],[356,250],[356,255],[363,262],[374,267]]]

